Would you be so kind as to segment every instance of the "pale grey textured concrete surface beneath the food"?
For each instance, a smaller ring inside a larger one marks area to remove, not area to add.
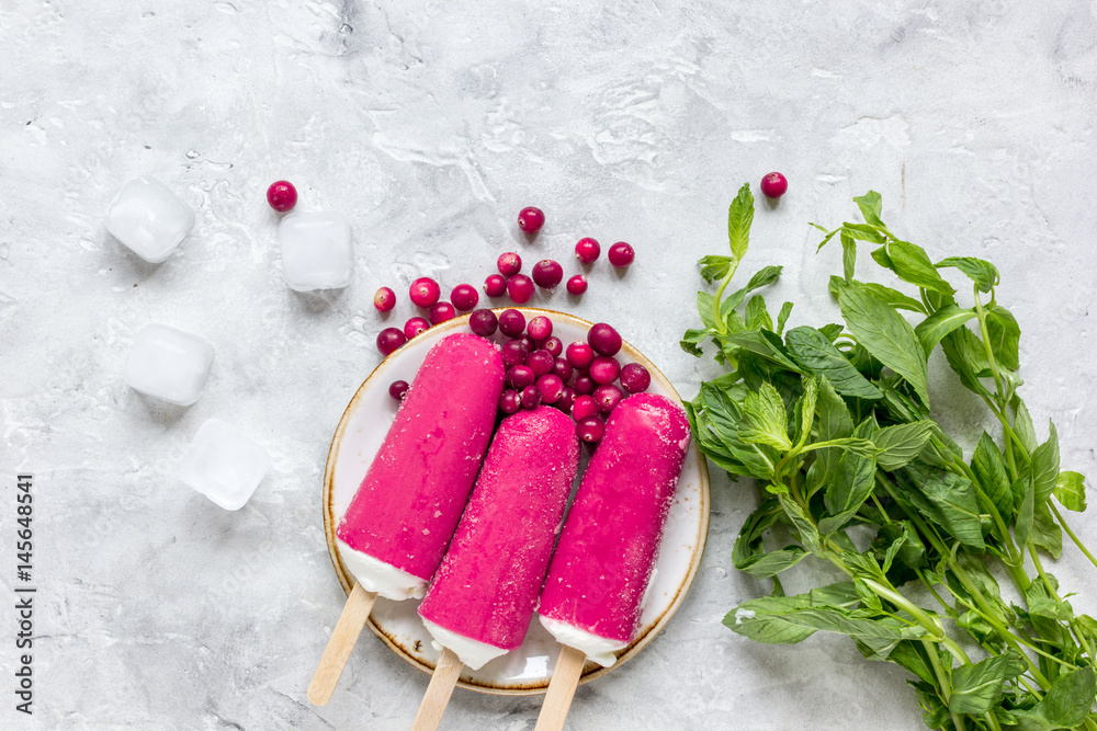
[[[724,250],[732,196],[770,170],[790,191],[759,205],[745,266],[785,266],[772,297],[796,302],[794,324],[835,312],[838,250],[816,255],[807,221],[850,218],[850,196],[878,190],[885,220],[935,259],[997,263],[1030,410],[1054,419],[1064,468],[1097,473],[1095,13],[1085,0],[0,1],[0,586],[13,596],[16,471],[35,477],[39,586],[35,716],[4,692],[0,726],[406,728],[427,677],[372,636],[329,706],[305,698],[343,603],[320,479],[378,362],[373,292],[425,274],[478,285],[506,250],[572,272],[578,238],[627,240],[626,274],[603,256],[580,301],[534,304],[615,323],[692,396],[719,373],[677,344],[692,262]],[[143,173],[196,214],[160,265],[102,226]],[[280,178],[302,209],[350,217],[346,290],[283,284],[263,198]],[[534,242],[514,225],[525,205],[548,217]],[[388,321],[410,313],[402,295]],[[214,344],[193,407],[122,382],[151,321]],[[977,434],[975,404],[931,366],[940,418]],[[215,415],[273,457],[238,513],[174,475]],[[755,489],[713,478],[692,593],[640,656],[578,692],[570,727],[918,728],[904,674],[848,642],[761,647],[720,625],[764,587],[731,567]],[[1075,523],[1097,533],[1093,516]],[[791,589],[821,578],[801,566]],[[1056,572],[1092,610],[1094,570],[1072,553]],[[539,705],[459,690],[444,724],[530,729]]]

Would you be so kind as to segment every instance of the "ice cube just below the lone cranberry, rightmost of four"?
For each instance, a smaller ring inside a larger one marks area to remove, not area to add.
[[[290,214],[279,226],[282,273],[291,289],[339,289],[354,276],[350,224],[332,212]]]

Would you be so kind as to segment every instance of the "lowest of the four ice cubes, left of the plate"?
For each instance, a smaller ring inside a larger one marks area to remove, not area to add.
[[[240,510],[270,469],[267,450],[219,419],[199,427],[179,479],[227,511]]]

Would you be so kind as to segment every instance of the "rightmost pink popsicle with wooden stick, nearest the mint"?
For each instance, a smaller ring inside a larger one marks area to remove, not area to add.
[[[539,730],[563,726],[585,659],[608,667],[635,638],[689,444],[666,397],[635,393],[610,414],[541,592],[541,624],[564,647]]]

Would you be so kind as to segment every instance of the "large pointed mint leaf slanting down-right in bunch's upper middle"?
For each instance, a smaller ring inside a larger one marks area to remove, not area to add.
[[[911,323],[860,285],[842,287],[838,305],[857,342],[906,379],[921,402],[929,406],[926,355]]]

